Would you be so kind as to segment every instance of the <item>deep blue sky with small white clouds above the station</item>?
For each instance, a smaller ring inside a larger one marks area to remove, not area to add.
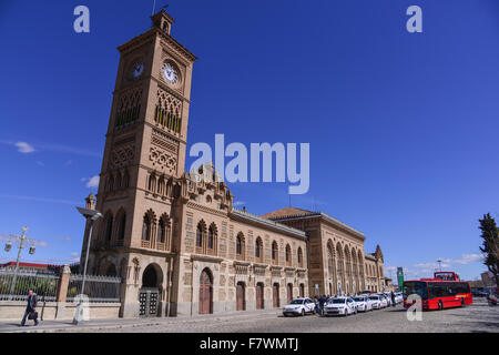
[[[40,243],[24,260],[79,255],[74,205],[96,190],[116,47],[150,28],[152,2],[0,3],[0,234],[30,227]],[[172,36],[200,58],[191,144],[310,143],[310,190],[294,206],[360,230],[366,252],[379,243],[408,276],[438,257],[467,278],[485,270],[478,219],[499,217],[496,0],[169,3]],[[86,34],[73,31],[79,4]],[[406,31],[411,4],[422,33]],[[289,203],[286,184],[231,187],[252,213]]]

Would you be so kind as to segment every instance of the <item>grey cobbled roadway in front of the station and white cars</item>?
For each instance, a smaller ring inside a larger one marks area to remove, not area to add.
[[[259,313],[221,318],[196,317],[182,322],[138,325],[123,328],[86,328],[81,332],[98,333],[413,333],[457,332],[499,333],[499,306],[490,307],[477,298],[465,308],[449,308],[422,313],[421,322],[407,321],[401,305],[380,311],[359,313],[348,317],[283,317],[281,313]]]

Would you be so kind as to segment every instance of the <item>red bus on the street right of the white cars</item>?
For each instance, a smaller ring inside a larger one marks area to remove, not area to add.
[[[466,281],[460,281],[454,272],[436,272],[434,278],[421,278],[404,282],[404,307],[416,303],[408,301],[409,295],[421,297],[422,310],[444,310],[459,307],[473,303],[471,287]]]

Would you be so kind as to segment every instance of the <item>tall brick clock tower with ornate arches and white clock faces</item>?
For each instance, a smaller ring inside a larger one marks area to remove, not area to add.
[[[118,48],[95,206],[104,217],[95,225],[89,255],[90,273],[122,277],[120,313],[125,317],[144,315],[145,303],[147,312],[156,306],[159,313],[175,313],[167,310],[175,303],[174,255],[181,237],[173,206],[185,171],[196,57],[173,39],[174,20],[164,10],[151,19],[149,31]]]

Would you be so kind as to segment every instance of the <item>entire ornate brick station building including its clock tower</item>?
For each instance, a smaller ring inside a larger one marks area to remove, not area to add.
[[[164,10],[152,22],[119,47],[99,191],[86,199],[103,214],[89,271],[122,277],[121,316],[272,308],[315,293],[380,291],[383,254],[374,260],[378,280],[366,278],[371,260],[360,232],[305,210],[312,215],[296,221],[240,211],[213,165],[200,166],[202,179],[185,172],[196,57],[173,39]]]

